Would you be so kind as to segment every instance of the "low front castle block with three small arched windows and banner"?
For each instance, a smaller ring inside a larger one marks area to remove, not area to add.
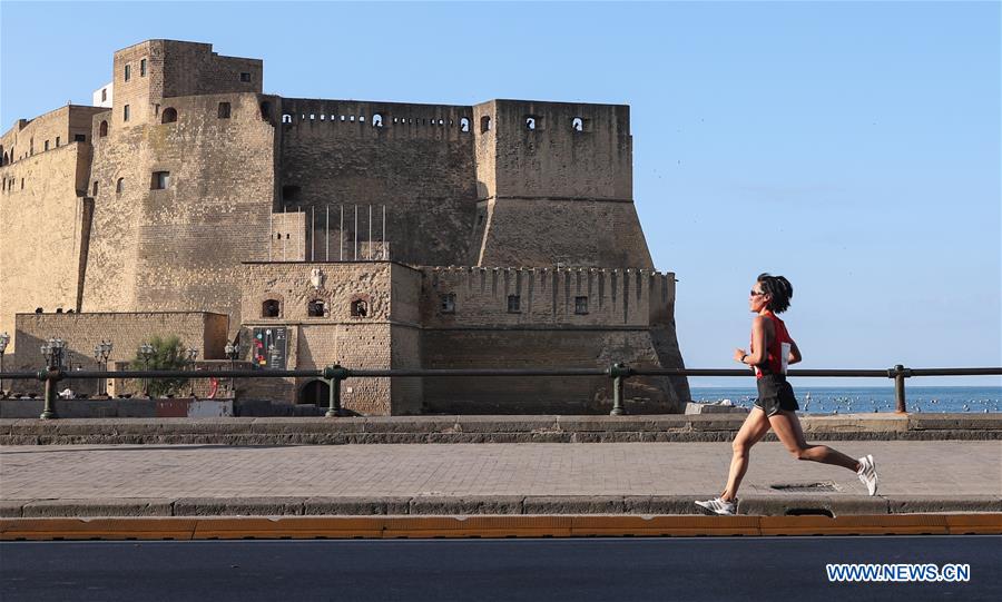
[[[389,261],[372,263],[255,263],[246,264],[244,278],[243,344],[257,327],[285,327],[294,348],[287,349],[288,368],[320,369],[342,364],[352,368],[420,367],[418,317],[421,274]],[[316,279],[314,269],[322,272]],[[313,278],[313,279],[312,279]],[[321,284],[321,286],[315,286]],[[279,317],[262,317],[265,300],[279,303]],[[324,315],[312,317],[307,305],[324,303]],[[365,303],[365,315],[352,315],[352,304]],[[284,385],[271,379],[248,381],[247,395],[295,398],[313,378],[289,378]],[[243,391],[243,389],[242,389]],[[342,387],[342,405],[362,414],[418,413],[418,378],[348,379]]]

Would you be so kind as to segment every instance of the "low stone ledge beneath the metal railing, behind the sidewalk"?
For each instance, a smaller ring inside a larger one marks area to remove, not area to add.
[[[0,445],[360,445],[730,441],[741,416],[0,420]],[[812,441],[1002,441],[1002,414],[805,416]],[[775,441],[769,433],[766,441]]]

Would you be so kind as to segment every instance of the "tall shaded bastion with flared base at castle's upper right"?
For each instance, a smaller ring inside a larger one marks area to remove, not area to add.
[[[475,109],[478,161],[493,160],[478,166],[477,265],[654,267],[632,200],[629,107],[495,100]]]

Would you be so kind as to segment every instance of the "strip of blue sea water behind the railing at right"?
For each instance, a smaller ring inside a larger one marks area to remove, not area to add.
[[[894,387],[814,387],[790,381],[800,412],[805,414],[859,414],[894,412]],[[752,407],[758,396],[754,387],[690,387],[699,403],[730,399],[738,407]],[[914,413],[1002,412],[1002,387],[923,387],[905,385],[905,404]]]

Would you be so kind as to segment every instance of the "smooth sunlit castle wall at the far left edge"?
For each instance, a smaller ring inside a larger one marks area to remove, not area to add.
[[[14,330],[17,313],[79,309],[89,162],[90,145],[72,142],[0,168],[0,332]]]

